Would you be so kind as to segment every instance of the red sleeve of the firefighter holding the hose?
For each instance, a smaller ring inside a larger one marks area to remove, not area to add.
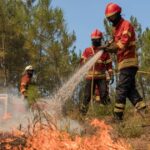
[[[132,34],[134,33],[133,26],[130,23],[125,23],[121,39],[116,43],[120,49],[127,47],[131,41]]]

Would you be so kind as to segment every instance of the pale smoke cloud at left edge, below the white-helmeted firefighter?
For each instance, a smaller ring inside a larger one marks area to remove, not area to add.
[[[18,96],[16,90],[9,89],[6,98],[0,100],[0,130],[26,128],[31,112],[27,109],[27,102]]]

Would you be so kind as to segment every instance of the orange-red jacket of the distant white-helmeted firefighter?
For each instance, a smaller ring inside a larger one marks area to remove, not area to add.
[[[31,82],[31,78],[29,77],[28,74],[24,74],[21,78],[21,83],[20,83],[20,92],[21,94],[24,95],[24,93],[27,91],[28,86]]]

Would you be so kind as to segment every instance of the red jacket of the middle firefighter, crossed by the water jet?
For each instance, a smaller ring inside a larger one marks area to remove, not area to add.
[[[81,56],[81,63],[85,63],[96,52],[98,52],[98,49],[93,46],[86,48]],[[94,66],[89,70],[86,79],[91,80],[92,77],[94,79],[105,79],[106,70],[112,75],[112,60],[108,52],[103,52]]]

